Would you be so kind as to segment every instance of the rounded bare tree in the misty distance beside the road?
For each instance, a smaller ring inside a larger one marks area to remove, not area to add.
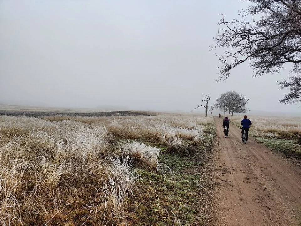
[[[228,91],[227,93],[220,94],[220,97],[216,99],[216,107],[222,110],[224,113],[229,111],[231,116],[236,113],[247,112],[246,105],[249,99],[246,99],[242,94],[235,91]]]

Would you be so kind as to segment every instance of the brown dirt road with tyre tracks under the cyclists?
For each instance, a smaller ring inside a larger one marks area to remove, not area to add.
[[[216,117],[214,207],[220,226],[301,225],[301,169]]]

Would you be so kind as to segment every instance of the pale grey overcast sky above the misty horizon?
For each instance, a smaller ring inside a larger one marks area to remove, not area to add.
[[[252,77],[248,64],[216,82],[209,51],[220,14],[240,0],[0,0],[0,103],[55,107],[123,106],[189,111],[202,94],[235,90],[250,110],[301,112],[283,105],[277,81]],[[217,113],[217,112],[216,112]]]

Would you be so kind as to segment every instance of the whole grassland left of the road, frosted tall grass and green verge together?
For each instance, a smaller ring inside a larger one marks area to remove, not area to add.
[[[0,125],[5,225],[210,222],[210,116],[0,116]]]

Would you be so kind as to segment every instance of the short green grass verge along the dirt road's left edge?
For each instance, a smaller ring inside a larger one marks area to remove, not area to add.
[[[167,153],[166,147],[160,147],[158,172],[139,171],[140,194],[135,194],[135,202],[140,205],[130,215],[131,225],[206,225],[211,220],[209,165],[214,136],[213,122],[204,128],[206,144],[195,146],[188,157]]]

